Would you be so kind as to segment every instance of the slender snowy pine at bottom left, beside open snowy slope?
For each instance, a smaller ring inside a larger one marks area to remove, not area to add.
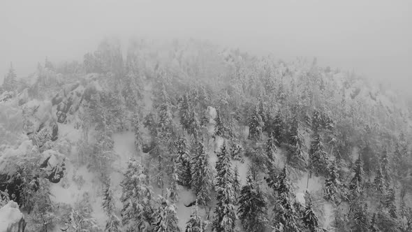
[[[120,219],[115,214],[115,202],[113,199],[112,188],[110,187],[110,180],[105,184],[103,192],[103,210],[108,215],[108,221],[106,222],[105,231],[118,232],[121,229]]]

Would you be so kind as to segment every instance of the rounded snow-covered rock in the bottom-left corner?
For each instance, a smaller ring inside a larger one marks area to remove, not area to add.
[[[0,232],[20,232],[24,231],[25,226],[24,215],[17,203],[9,201],[0,208]]]

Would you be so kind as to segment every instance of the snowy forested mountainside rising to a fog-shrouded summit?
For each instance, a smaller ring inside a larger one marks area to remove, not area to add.
[[[377,86],[195,40],[10,67],[0,205],[29,231],[411,231],[411,110]]]

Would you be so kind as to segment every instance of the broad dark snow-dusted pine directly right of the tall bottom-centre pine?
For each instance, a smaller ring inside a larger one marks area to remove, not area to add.
[[[266,202],[256,175],[256,170],[250,167],[247,173],[247,184],[242,187],[238,200],[237,215],[247,232],[265,231],[267,223]]]

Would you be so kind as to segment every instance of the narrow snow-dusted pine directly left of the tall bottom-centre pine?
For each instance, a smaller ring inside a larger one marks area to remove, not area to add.
[[[196,154],[191,158],[193,167],[191,188],[196,193],[199,205],[207,205],[212,189],[212,171],[209,165],[209,155],[200,140],[196,141]]]

